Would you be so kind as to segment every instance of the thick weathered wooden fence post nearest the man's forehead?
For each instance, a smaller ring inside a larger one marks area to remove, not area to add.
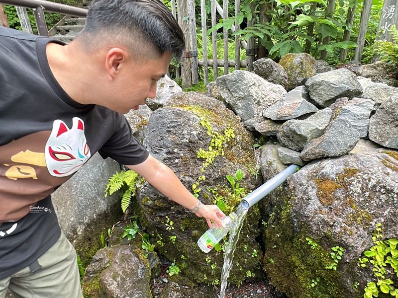
[[[181,62],[181,78],[183,89],[192,87],[191,62],[189,58],[188,5],[186,0],[177,0],[178,23],[183,30],[187,52]]]

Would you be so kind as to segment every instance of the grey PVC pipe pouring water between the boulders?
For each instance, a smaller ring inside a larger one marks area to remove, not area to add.
[[[240,202],[240,205],[242,205],[246,209],[249,209],[254,204],[256,204],[258,201],[260,201],[262,198],[264,198],[266,195],[268,195],[270,192],[272,192],[279,185],[284,183],[286,181],[286,179],[290,175],[296,173],[297,169],[299,169],[299,168],[300,168],[299,165],[291,164],[286,169],[284,169],[282,172],[280,172],[279,174],[277,174],[276,176],[274,176],[270,180],[268,180],[266,183],[261,185],[255,191],[251,192],[246,197],[244,197],[242,199],[242,202]]]

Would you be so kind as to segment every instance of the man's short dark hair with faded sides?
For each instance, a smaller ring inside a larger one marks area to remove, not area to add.
[[[122,42],[149,58],[171,52],[180,60],[185,51],[183,31],[160,0],[94,0],[79,40]]]

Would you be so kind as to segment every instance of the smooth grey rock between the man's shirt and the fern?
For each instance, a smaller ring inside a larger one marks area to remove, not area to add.
[[[61,229],[77,250],[87,247],[92,236],[100,236],[103,226],[112,226],[119,219],[119,196],[104,198],[108,179],[116,172],[120,172],[119,163],[103,160],[96,153],[52,194]]]

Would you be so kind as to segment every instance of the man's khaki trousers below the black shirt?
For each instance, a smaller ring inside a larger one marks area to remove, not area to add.
[[[16,298],[82,298],[76,250],[64,233],[37,262],[0,280],[0,298],[7,288]]]

